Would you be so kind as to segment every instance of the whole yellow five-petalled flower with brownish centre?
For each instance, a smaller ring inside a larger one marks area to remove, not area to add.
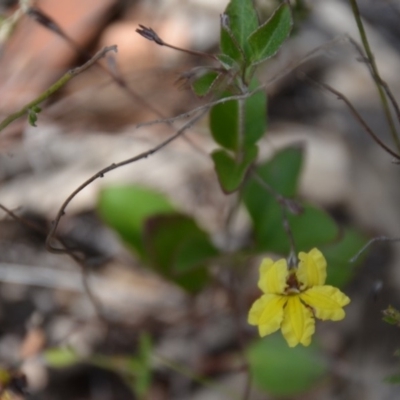
[[[254,302],[248,322],[258,326],[260,336],[278,329],[290,347],[308,346],[315,331],[315,317],[339,321],[350,299],[339,289],[324,285],[326,260],[318,249],[299,254],[298,268],[288,269],[285,259],[265,258],[258,287],[263,295]]]

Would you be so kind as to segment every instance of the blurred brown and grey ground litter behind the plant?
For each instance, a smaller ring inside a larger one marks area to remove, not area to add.
[[[261,14],[269,15],[279,2],[256,3]],[[381,75],[399,98],[400,2],[358,3]],[[208,157],[215,144],[207,117],[151,157],[94,181],[69,204],[58,235],[85,254],[84,271],[44,246],[59,208],[79,185],[100,169],[157,146],[183,122],[138,124],[207,102],[179,78],[210,62],[145,40],[136,33],[139,24],[174,46],[218,53],[219,15],[227,1],[38,0],[34,5],[70,41],[26,15],[7,38],[0,38],[1,119],[81,65],[85,54],[104,46],[118,46],[101,63],[118,71],[126,86],[121,88],[95,65],[43,105],[37,127],[21,118],[0,135],[0,203],[25,221],[5,212],[0,220],[0,366],[23,371],[29,390],[14,395],[65,400],[234,398],[232,393],[244,391],[246,373],[238,355],[243,338],[237,335],[226,291],[215,285],[195,298],[188,296],[143,268],[97,212],[102,189],[145,185],[193,216],[225,250],[246,242],[245,212],[237,216],[233,238],[226,238],[235,199],[221,192]],[[399,237],[399,165],[370,139],[342,101],[303,78],[307,74],[343,93],[394,148],[368,68],[346,36],[359,41],[349,2],[310,0],[303,6],[291,38],[260,70],[269,99],[269,128],[260,157],[289,143],[303,143],[302,199],[366,237]],[[17,9],[16,1],[0,1],[4,18]],[[244,308],[257,294],[256,274],[254,263],[244,276],[235,276]],[[226,284],[231,278],[226,277]],[[400,243],[374,244],[344,288],[352,298],[346,319],[317,325],[329,374],[289,398],[399,396],[398,385],[385,382],[399,372],[399,329],[382,322],[382,310],[400,307],[399,289]],[[245,318],[239,323],[244,340],[255,338]],[[151,361],[150,352],[157,355]],[[248,398],[275,397],[252,387]]]

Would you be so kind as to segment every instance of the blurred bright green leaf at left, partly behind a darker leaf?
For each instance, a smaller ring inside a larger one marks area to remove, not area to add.
[[[97,210],[102,219],[141,257],[145,257],[143,227],[154,214],[172,213],[164,195],[140,186],[114,186],[103,189]]]

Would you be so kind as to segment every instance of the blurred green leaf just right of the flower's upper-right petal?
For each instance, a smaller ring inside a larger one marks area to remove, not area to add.
[[[355,229],[345,229],[340,241],[322,246],[320,250],[328,262],[327,285],[343,287],[353,278],[356,267],[362,263],[367,256],[363,253],[357,262],[350,262],[354,256],[365,244],[367,238]]]

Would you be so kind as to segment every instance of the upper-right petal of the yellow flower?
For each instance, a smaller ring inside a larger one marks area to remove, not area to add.
[[[308,253],[299,253],[299,267],[296,275],[301,283],[301,289],[320,286],[326,280],[326,260],[316,248]]]

